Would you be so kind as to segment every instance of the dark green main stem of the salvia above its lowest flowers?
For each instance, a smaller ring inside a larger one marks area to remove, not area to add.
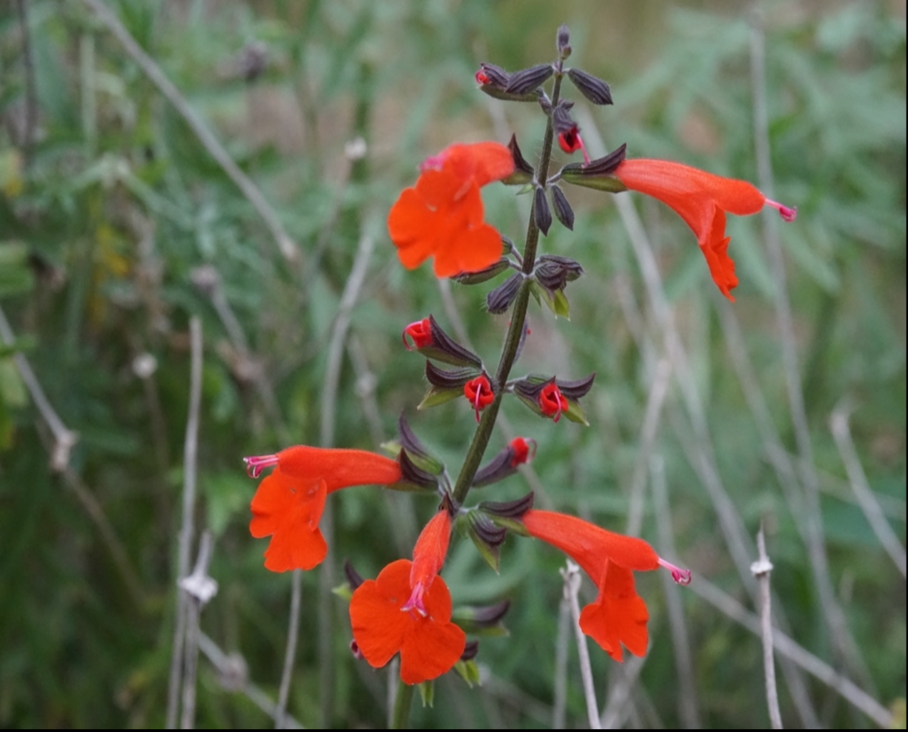
[[[561,73],[556,73],[555,83],[552,86],[552,109],[558,104],[558,95],[561,92]],[[552,124],[552,115],[548,115],[546,124],[546,134],[542,140],[542,154],[539,156],[539,167],[536,172],[536,181],[539,185],[545,185],[548,180],[548,164],[552,158],[552,142],[555,140],[555,128]],[[534,203],[535,207],[535,203]],[[495,420],[498,418],[498,409],[501,407],[501,400],[505,395],[504,386],[508,383],[511,366],[514,366],[514,360],[517,358],[518,347],[520,346],[520,337],[523,335],[527,321],[527,306],[529,302],[529,291],[531,280],[528,278],[536,266],[536,249],[539,243],[539,228],[536,225],[536,211],[530,209],[529,223],[527,225],[527,239],[523,248],[523,273],[527,276],[521,285],[517,298],[514,299],[514,308],[511,311],[511,322],[508,327],[508,335],[505,337],[505,345],[501,350],[501,358],[498,361],[498,369],[495,373],[495,401],[486,407],[479,420],[479,426],[473,433],[473,441],[469,444],[467,456],[464,458],[463,466],[460,468],[458,480],[454,486],[454,503],[463,505],[467,499],[470,486],[473,484],[473,478],[479,470],[479,463],[482,456],[489,446],[489,438],[492,436],[492,429],[495,427]]]

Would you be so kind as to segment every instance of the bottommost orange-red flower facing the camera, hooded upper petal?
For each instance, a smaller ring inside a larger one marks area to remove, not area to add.
[[[449,671],[467,643],[464,631],[451,622],[448,585],[437,576],[448,553],[450,528],[449,512],[442,508],[419,534],[413,561],[392,561],[350,599],[357,649],[377,669],[400,653],[405,684]]]

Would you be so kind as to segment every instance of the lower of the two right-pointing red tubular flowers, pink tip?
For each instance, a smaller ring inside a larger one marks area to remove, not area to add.
[[[672,572],[680,584],[690,582],[690,571],[668,563],[642,539],[608,532],[564,513],[530,509],[523,514],[531,536],[564,551],[596,582],[599,594],[580,613],[580,630],[594,639],[613,659],[623,660],[622,644],[635,656],[646,653],[646,603],[634,588],[634,571]]]

